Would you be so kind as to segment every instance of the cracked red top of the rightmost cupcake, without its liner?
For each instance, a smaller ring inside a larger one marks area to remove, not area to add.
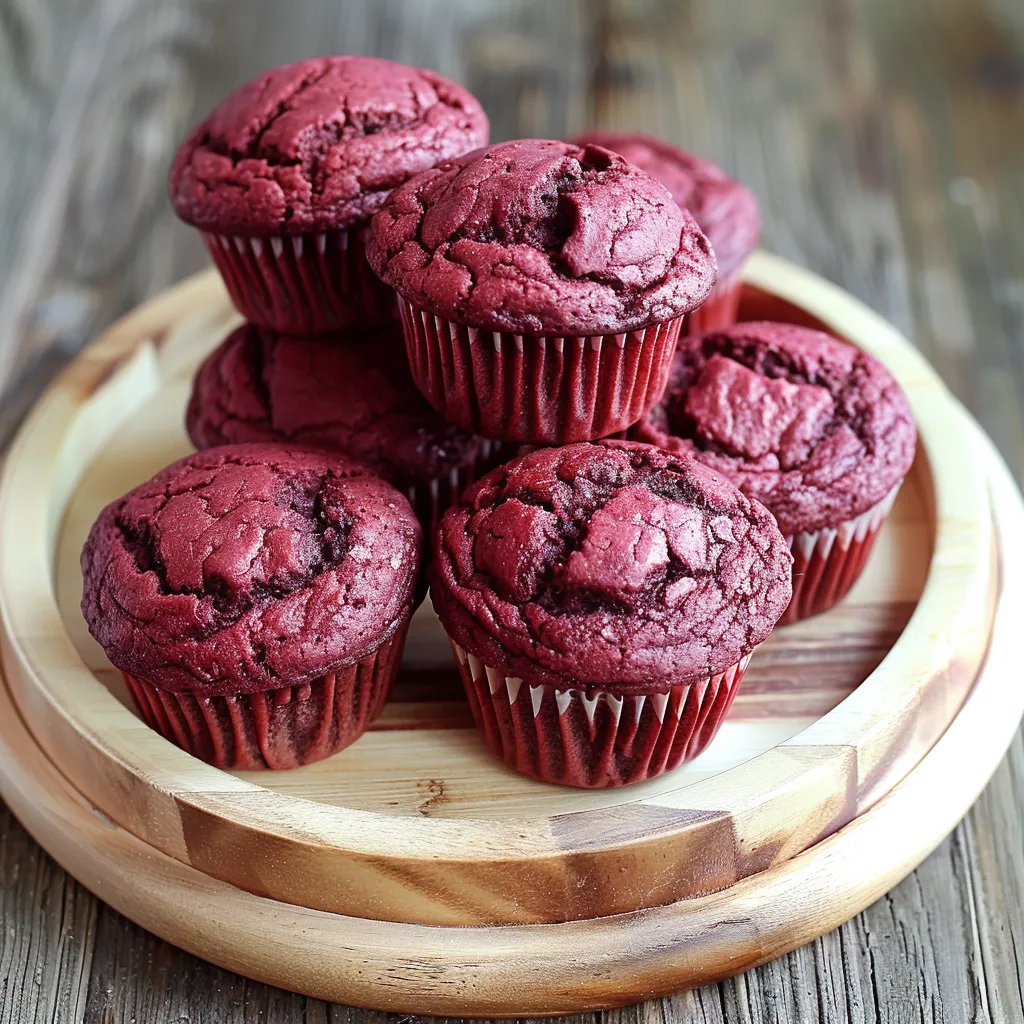
[[[793,535],[882,501],[918,435],[877,359],[821,331],[751,323],[682,339],[662,403],[630,436],[725,474]]]

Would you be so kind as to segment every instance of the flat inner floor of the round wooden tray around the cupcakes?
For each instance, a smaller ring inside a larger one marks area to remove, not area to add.
[[[181,339],[184,345],[185,338]],[[171,339],[161,350],[171,353]],[[121,675],[88,634],[80,604],[82,545],[97,509],[190,451],[181,410],[188,379],[175,376],[146,401],[131,430],[117,431],[75,488],[56,552],[57,603],[85,665],[128,705]],[[501,770],[477,738],[429,603],[415,616],[395,691],[368,736],[338,757],[288,772],[239,773],[275,793],[317,803],[428,817],[529,818],[633,801],[664,804],[693,782],[791,739],[848,697],[906,626],[931,554],[931,481],[915,470],[901,489],[854,592],[826,616],[778,630],[763,644],[722,731],[695,762],[641,787],[581,792]]]

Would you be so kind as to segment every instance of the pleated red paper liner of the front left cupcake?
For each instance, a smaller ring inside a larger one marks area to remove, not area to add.
[[[381,713],[401,662],[406,623],[373,654],[301,686],[204,697],[122,673],[142,720],[217,768],[297,768],[358,739]]]

